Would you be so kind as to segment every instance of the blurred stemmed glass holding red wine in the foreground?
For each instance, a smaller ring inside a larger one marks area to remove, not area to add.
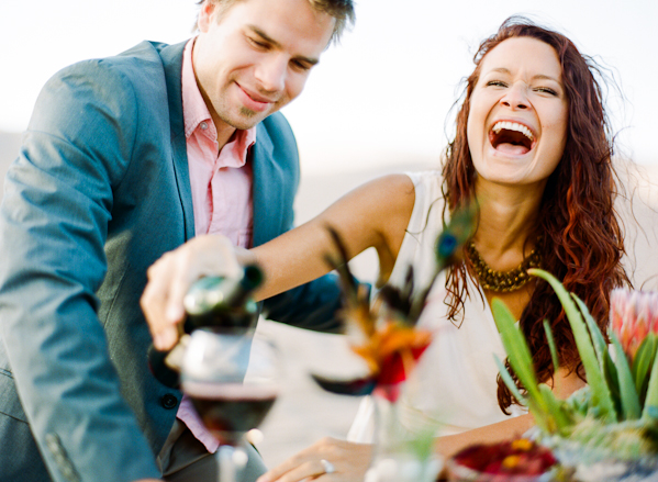
[[[244,435],[260,425],[279,391],[279,352],[253,334],[197,329],[182,359],[182,391],[220,441],[221,482],[239,480],[247,463]]]

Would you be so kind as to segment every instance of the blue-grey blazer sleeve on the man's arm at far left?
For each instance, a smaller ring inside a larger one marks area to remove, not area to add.
[[[0,334],[55,481],[158,478],[121,395],[96,291],[112,188],[135,139],[130,82],[102,60],[44,87],[0,209]]]

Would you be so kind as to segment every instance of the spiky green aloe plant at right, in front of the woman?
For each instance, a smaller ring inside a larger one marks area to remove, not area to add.
[[[610,442],[618,441],[621,453],[617,455],[631,459],[658,453],[658,336],[647,334],[629,357],[614,332],[610,334],[612,345],[606,344],[584,303],[567,292],[553,274],[540,269],[531,269],[528,273],[546,280],[560,300],[588,385],[561,401],[547,385],[539,383],[529,348],[514,316],[501,300],[494,299],[491,304],[493,317],[510,366],[524,388],[522,393],[497,358],[501,377],[513,395],[528,407],[538,427],[547,435],[588,444],[598,444],[602,437]],[[557,350],[546,321],[544,328],[557,372]],[[628,444],[629,437],[634,439],[635,436],[640,441]]]

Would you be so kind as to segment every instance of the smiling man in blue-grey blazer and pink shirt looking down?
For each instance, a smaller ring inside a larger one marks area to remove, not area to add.
[[[349,0],[204,0],[196,40],[48,81],[0,210],[1,481],[213,477],[213,441],[148,372],[146,269],[196,234],[248,246],[292,226],[297,145],[275,112],[353,15]],[[331,330],[337,305],[324,279],[265,311]]]

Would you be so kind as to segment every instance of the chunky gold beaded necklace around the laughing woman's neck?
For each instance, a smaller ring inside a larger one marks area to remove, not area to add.
[[[476,276],[482,288],[497,293],[508,293],[523,288],[531,280],[527,270],[542,266],[542,255],[535,249],[531,251],[517,268],[511,271],[495,271],[491,269],[480,257],[472,240],[466,246],[466,254],[476,270]]]

